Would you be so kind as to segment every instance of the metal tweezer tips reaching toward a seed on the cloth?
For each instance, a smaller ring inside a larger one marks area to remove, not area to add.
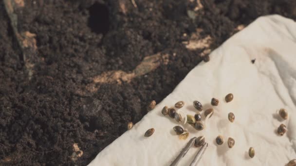
[[[187,143],[187,145],[185,146],[184,149],[182,149],[182,151],[180,152],[180,154],[178,155],[178,157],[172,162],[172,164],[170,166],[177,166],[178,163],[180,162],[180,160],[185,156],[185,154],[187,153],[187,151],[192,147],[192,145],[194,144],[194,141],[196,140],[196,137],[193,137],[190,139],[190,141]],[[205,142],[202,146],[202,148],[197,152],[197,154],[195,155],[194,159],[192,160],[191,164],[189,166],[197,166],[197,164],[199,163],[199,161],[201,160],[203,153],[206,149],[206,147],[208,146],[208,144]]]

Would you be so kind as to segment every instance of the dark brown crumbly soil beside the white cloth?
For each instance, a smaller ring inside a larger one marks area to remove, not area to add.
[[[184,41],[202,29],[213,50],[240,24],[262,15],[296,19],[294,0],[25,0],[18,30],[36,34],[39,64],[31,80],[0,1],[0,165],[85,166],[160,102],[199,62],[204,49]],[[123,7],[124,6],[124,7]],[[186,33],[187,35],[183,35]],[[145,56],[167,53],[130,82],[86,86],[110,70],[132,71]],[[215,58],[215,57],[214,57]],[[73,145],[83,155],[73,160]]]

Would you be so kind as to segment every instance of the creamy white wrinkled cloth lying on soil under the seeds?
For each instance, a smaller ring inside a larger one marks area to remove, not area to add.
[[[210,58],[192,69],[170,95],[89,166],[168,166],[190,138],[201,135],[209,146],[198,166],[284,166],[296,158],[296,22],[277,15],[259,17]],[[226,103],[228,93],[234,100]],[[218,106],[210,105],[213,97],[220,100]],[[185,114],[198,112],[194,100],[203,104],[203,112],[214,108],[206,129],[198,132],[161,114],[165,105],[173,106],[179,100],[185,101],[180,109]],[[278,116],[280,108],[288,111],[288,120]],[[228,120],[229,112],[235,114],[234,123]],[[283,136],[276,133],[281,123],[287,126]],[[179,140],[173,132],[176,125],[189,131],[186,140]],[[150,128],[155,132],[144,137]],[[224,136],[222,146],[215,143],[219,134]],[[228,137],[235,139],[232,149],[227,147]],[[254,158],[248,156],[250,147],[255,149]],[[188,166],[197,151],[189,149],[179,166]]]

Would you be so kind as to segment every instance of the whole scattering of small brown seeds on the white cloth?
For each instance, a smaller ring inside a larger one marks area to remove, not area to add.
[[[227,94],[225,96],[225,101],[228,103],[230,101],[233,100],[233,94]],[[219,104],[219,100],[212,98],[211,100],[211,105],[213,106],[218,106]],[[156,102],[153,100],[149,106],[148,106],[148,111],[152,110],[156,105]],[[205,128],[204,124],[201,122],[202,120],[202,116],[200,114],[200,112],[203,111],[203,105],[201,102],[195,100],[193,101],[193,106],[195,109],[198,110],[198,112],[193,116],[193,115],[184,115],[182,111],[180,111],[179,109],[182,108],[185,105],[184,101],[178,101],[177,103],[175,103],[174,107],[170,107],[168,108],[168,106],[165,106],[162,109],[162,114],[164,116],[168,115],[171,118],[174,118],[178,123],[182,123],[182,121],[184,121],[184,124],[188,123],[189,125],[191,125],[194,129],[201,131]],[[208,108],[204,111],[204,116],[205,119],[210,118],[211,116],[213,116],[214,114],[214,109],[213,108]],[[282,117],[284,120],[286,120],[288,118],[288,113],[285,109],[281,108],[279,110],[279,116]],[[235,115],[232,112],[228,113],[228,120],[233,123],[235,120]],[[128,129],[131,129],[133,126],[133,124],[130,122],[128,124]],[[145,136],[151,136],[154,133],[154,129],[149,129],[146,133]],[[179,135],[180,139],[186,139],[189,136],[189,133],[183,129],[181,126],[174,126],[173,127],[173,131]],[[277,133],[279,135],[283,135],[284,133],[286,133],[286,126],[284,124],[280,124],[280,126],[277,128]],[[224,138],[222,135],[218,135],[215,139],[217,145],[222,145],[224,143]],[[204,136],[199,136],[194,143],[195,147],[201,147],[203,144],[205,143],[205,137]],[[232,137],[228,137],[228,141],[227,141],[227,145],[228,148],[233,148],[235,145],[235,140]],[[255,156],[255,149],[253,147],[249,148],[249,156],[250,158],[253,158]],[[291,160],[287,166],[296,166],[296,159]]]

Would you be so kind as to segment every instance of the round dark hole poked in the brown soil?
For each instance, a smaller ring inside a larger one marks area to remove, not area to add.
[[[109,31],[109,10],[101,3],[94,3],[90,8],[88,26],[92,32],[106,34]]]

